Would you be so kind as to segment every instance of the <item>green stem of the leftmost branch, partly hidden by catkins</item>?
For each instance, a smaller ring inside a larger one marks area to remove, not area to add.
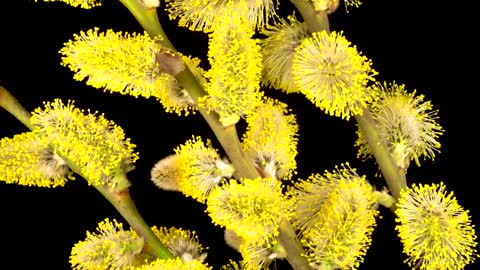
[[[2,86],[0,86],[0,106],[15,116],[30,130],[34,129],[34,126],[30,122],[31,114],[25,110],[25,108],[7,91],[7,89]],[[51,147],[53,148],[54,146],[52,145]],[[72,171],[87,180],[87,177],[82,174],[80,167],[64,157],[59,151],[56,151],[56,153],[67,163]],[[118,175],[116,177],[117,179],[115,182],[120,183],[121,186],[113,189],[106,186],[94,187],[118,210],[137,234],[143,237],[154,255],[162,259],[174,258],[173,254],[160,242],[138,212],[132,198],[130,197],[127,188],[129,181],[126,176]]]

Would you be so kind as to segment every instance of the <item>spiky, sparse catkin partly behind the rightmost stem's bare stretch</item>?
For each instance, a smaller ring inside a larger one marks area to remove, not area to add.
[[[405,85],[377,83],[374,87],[380,99],[372,105],[372,117],[397,166],[405,171],[411,160],[420,166],[421,157],[433,159],[440,149],[438,138],[443,134],[436,122],[438,111],[424,101],[423,95],[408,93]],[[358,156],[371,157],[362,132],[359,130],[357,134]]]

